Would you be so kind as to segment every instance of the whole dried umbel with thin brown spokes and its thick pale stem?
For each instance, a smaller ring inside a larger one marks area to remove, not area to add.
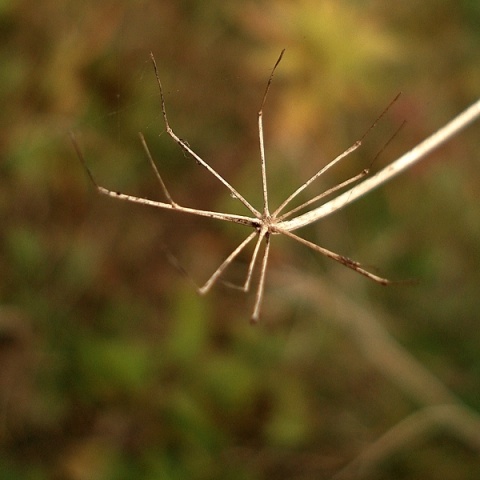
[[[145,150],[148,161],[155,173],[155,176],[158,179],[160,187],[166,198],[166,202],[160,202],[160,201],[150,200],[147,198],[136,197],[136,196],[116,192],[113,190],[109,190],[105,187],[102,187],[96,182],[91,170],[89,169],[83,157],[83,154],[80,150],[80,147],[78,146],[78,143],[75,139],[74,134],[73,133],[70,134],[77,156],[81,164],[83,165],[86,171],[86,174],[90,182],[92,183],[93,187],[100,194],[106,195],[112,198],[117,198],[120,200],[125,200],[127,202],[139,203],[141,205],[149,205],[152,207],[162,208],[165,210],[189,213],[192,215],[213,218],[213,219],[222,220],[226,222],[238,223],[238,224],[250,227],[253,230],[230,253],[230,255],[228,255],[228,257],[215,270],[215,272],[210,276],[210,278],[206,281],[206,283],[202,287],[197,288],[198,292],[201,295],[205,295],[206,293],[208,293],[210,289],[214,286],[214,284],[217,282],[217,280],[220,278],[220,276],[228,268],[228,266],[234,261],[234,259],[245,249],[245,247],[248,244],[250,244],[256,238],[252,257],[247,269],[245,283],[243,284],[243,286],[240,287],[242,291],[248,292],[250,289],[253,272],[254,272],[255,266],[257,265],[260,248],[262,243],[264,243],[265,246],[264,246],[263,256],[261,258],[261,263],[260,263],[258,285],[255,293],[255,301],[254,301],[253,311],[251,315],[252,323],[258,322],[260,317],[262,300],[263,300],[264,291],[265,291],[265,277],[267,273],[271,237],[275,235],[285,235],[287,237],[290,237],[293,240],[296,240],[297,242],[302,243],[303,245],[306,245],[312,250],[318,253],[321,253],[322,255],[325,255],[326,257],[331,258],[332,260],[335,260],[338,263],[341,263],[342,265],[345,265],[346,267],[360,273],[361,275],[364,275],[370,280],[373,280],[374,282],[377,282],[381,285],[389,285],[393,283],[391,280],[379,277],[369,272],[368,270],[365,270],[359,262],[356,262],[355,260],[352,260],[343,255],[339,255],[338,253],[327,250],[326,248],[321,247],[315,243],[312,243],[298,236],[293,232],[301,227],[304,227],[313,222],[316,222],[317,220],[333,213],[336,210],[339,210],[340,208],[344,207],[345,205],[352,202],[353,200],[356,200],[357,198],[364,195],[365,193],[372,190],[373,188],[376,188],[378,185],[386,182],[387,180],[392,178],[394,175],[398,174],[402,170],[405,170],[407,167],[411,166],[416,161],[425,157],[428,153],[430,153],[432,150],[437,148],[441,143],[445,142],[447,139],[449,139],[451,136],[457,133],[461,128],[466,126],[468,123],[472,122],[476,117],[480,116],[480,100],[478,100],[471,107],[465,110],[462,114],[460,114],[455,119],[451,120],[447,125],[445,125],[436,133],[428,137],[426,140],[424,140],[422,143],[417,145],[415,148],[413,148],[412,150],[410,150],[409,152],[407,152],[406,154],[404,154],[403,156],[395,160],[393,163],[385,167],[383,170],[380,170],[379,172],[377,172],[375,175],[369,176],[363,182],[358,183],[359,180],[361,180],[362,178],[366,177],[369,174],[368,168],[364,169],[358,175],[355,175],[345,180],[344,182],[341,182],[340,184],[328,189],[322,194],[317,195],[312,199],[304,202],[300,206],[285,212],[287,205],[289,205],[290,202],[294,198],[296,198],[301,192],[303,192],[312,182],[314,182],[323,173],[325,173],[327,170],[332,168],[334,165],[336,165],[338,162],[343,160],[345,157],[347,157],[349,154],[355,151],[358,147],[360,147],[360,145],[362,144],[362,140],[367,135],[367,133],[376,125],[378,120],[386,113],[386,111],[390,108],[390,106],[396,101],[396,99],[398,98],[398,95],[397,95],[397,97],[380,114],[377,120],[375,120],[375,122],[371,125],[371,127],[367,130],[367,132],[363,135],[363,137],[360,138],[360,140],[357,140],[351,147],[349,147],[347,150],[345,150],[343,153],[338,155],[331,162],[329,162],[327,165],[321,168],[315,175],[313,175],[309,180],[307,180],[299,188],[297,188],[297,190],[295,190],[287,199],[285,199],[285,201],[283,201],[279,207],[277,207],[273,212],[271,212],[269,202],[268,202],[268,188],[267,188],[267,177],[266,177],[265,148],[264,148],[264,136],[263,136],[263,108],[267,99],[267,94],[270,89],[270,85],[273,80],[275,70],[278,64],[280,63],[284,52],[285,50],[282,50],[282,52],[280,53],[280,56],[278,57],[271,71],[271,74],[267,81],[267,85],[263,95],[260,110],[258,111],[258,138],[260,143],[260,166],[261,166],[262,191],[263,191],[263,208],[261,210],[257,210],[255,207],[253,207],[237,189],[235,189],[227,180],[225,180],[216,170],[214,170],[198,154],[196,154],[190,148],[190,145],[185,140],[182,140],[181,138],[179,138],[175,134],[175,132],[172,130],[167,118],[167,113],[165,109],[165,97],[164,97],[162,82],[160,80],[160,75],[158,73],[155,57],[153,53],[150,53],[150,58],[153,64],[153,69],[155,72],[155,77],[156,77],[159,92],[160,92],[160,102],[161,102],[163,120],[165,122],[165,129],[168,135],[180,146],[180,148],[184,151],[185,154],[189,154],[190,156],[192,156],[199,165],[204,167],[215,178],[217,178],[229,190],[230,195],[238,199],[250,211],[251,213],[250,216],[236,215],[231,213],[223,213],[223,212],[216,212],[216,211],[209,211],[209,210],[201,210],[201,209],[196,209],[191,207],[185,207],[175,202],[172,196],[170,195],[157,169],[157,166],[150,153],[150,150],[148,149],[148,146],[146,144],[145,138],[141,133],[139,134],[140,141],[142,143],[143,149]],[[312,203],[317,202],[318,200],[321,200],[327,195],[331,195],[332,193],[335,193],[339,190],[343,190],[345,187],[353,183],[357,183],[357,185],[353,186],[349,190],[338,195],[333,200],[327,203],[324,203],[323,205],[317,208],[309,210],[306,213],[298,215],[290,220],[287,220],[288,217],[293,216],[293,214],[310,206]]]

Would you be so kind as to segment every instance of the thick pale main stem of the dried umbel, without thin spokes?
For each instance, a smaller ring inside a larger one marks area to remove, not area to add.
[[[468,107],[464,112],[455,117],[452,121],[447,123],[440,130],[418,144],[415,148],[402,155],[393,163],[380,170],[377,174],[367,178],[362,183],[354,186],[350,190],[342,193],[333,200],[324,203],[318,208],[311,210],[303,215],[300,215],[292,220],[279,222],[277,226],[282,230],[296,230],[298,228],[309,225],[317,220],[320,220],[327,215],[343,208],[345,205],[357,200],[362,195],[370,192],[374,188],[387,182],[395,175],[398,175],[403,170],[411,167],[414,163],[425,158],[429,153],[438,148],[442,143],[456,135],[461,129],[472,123],[480,116],[480,99],[473,105]]]

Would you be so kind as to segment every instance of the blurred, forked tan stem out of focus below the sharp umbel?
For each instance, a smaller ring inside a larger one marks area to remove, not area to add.
[[[366,308],[316,276],[290,270],[276,272],[273,277],[282,290],[280,298],[293,295],[297,300],[318,306],[321,311],[334,311],[335,315],[322,318],[330,319],[344,330],[364,357],[420,407],[365,447],[331,480],[370,478],[382,461],[402,449],[412,448],[415,442],[428,439],[440,428],[480,453],[479,414],[388,333],[383,324],[394,324],[394,319]]]

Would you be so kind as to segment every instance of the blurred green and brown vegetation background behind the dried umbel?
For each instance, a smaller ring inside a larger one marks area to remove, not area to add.
[[[479,5],[1,1],[0,478],[330,478],[446,389],[480,411],[479,124],[299,232],[415,285],[275,237],[256,327],[253,294],[199,297],[165,253],[201,284],[248,232],[96,195],[68,137],[99,183],[162,200],[141,131],[177,202],[246,214],[166,135],[152,51],[176,133],[261,208],[256,114],[286,48],[264,111],[272,205],[402,91],[319,193],[403,120],[374,169],[478,97]],[[433,383],[402,383],[404,360]],[[412,439],[368,478],[480,478],[478,445]]]

